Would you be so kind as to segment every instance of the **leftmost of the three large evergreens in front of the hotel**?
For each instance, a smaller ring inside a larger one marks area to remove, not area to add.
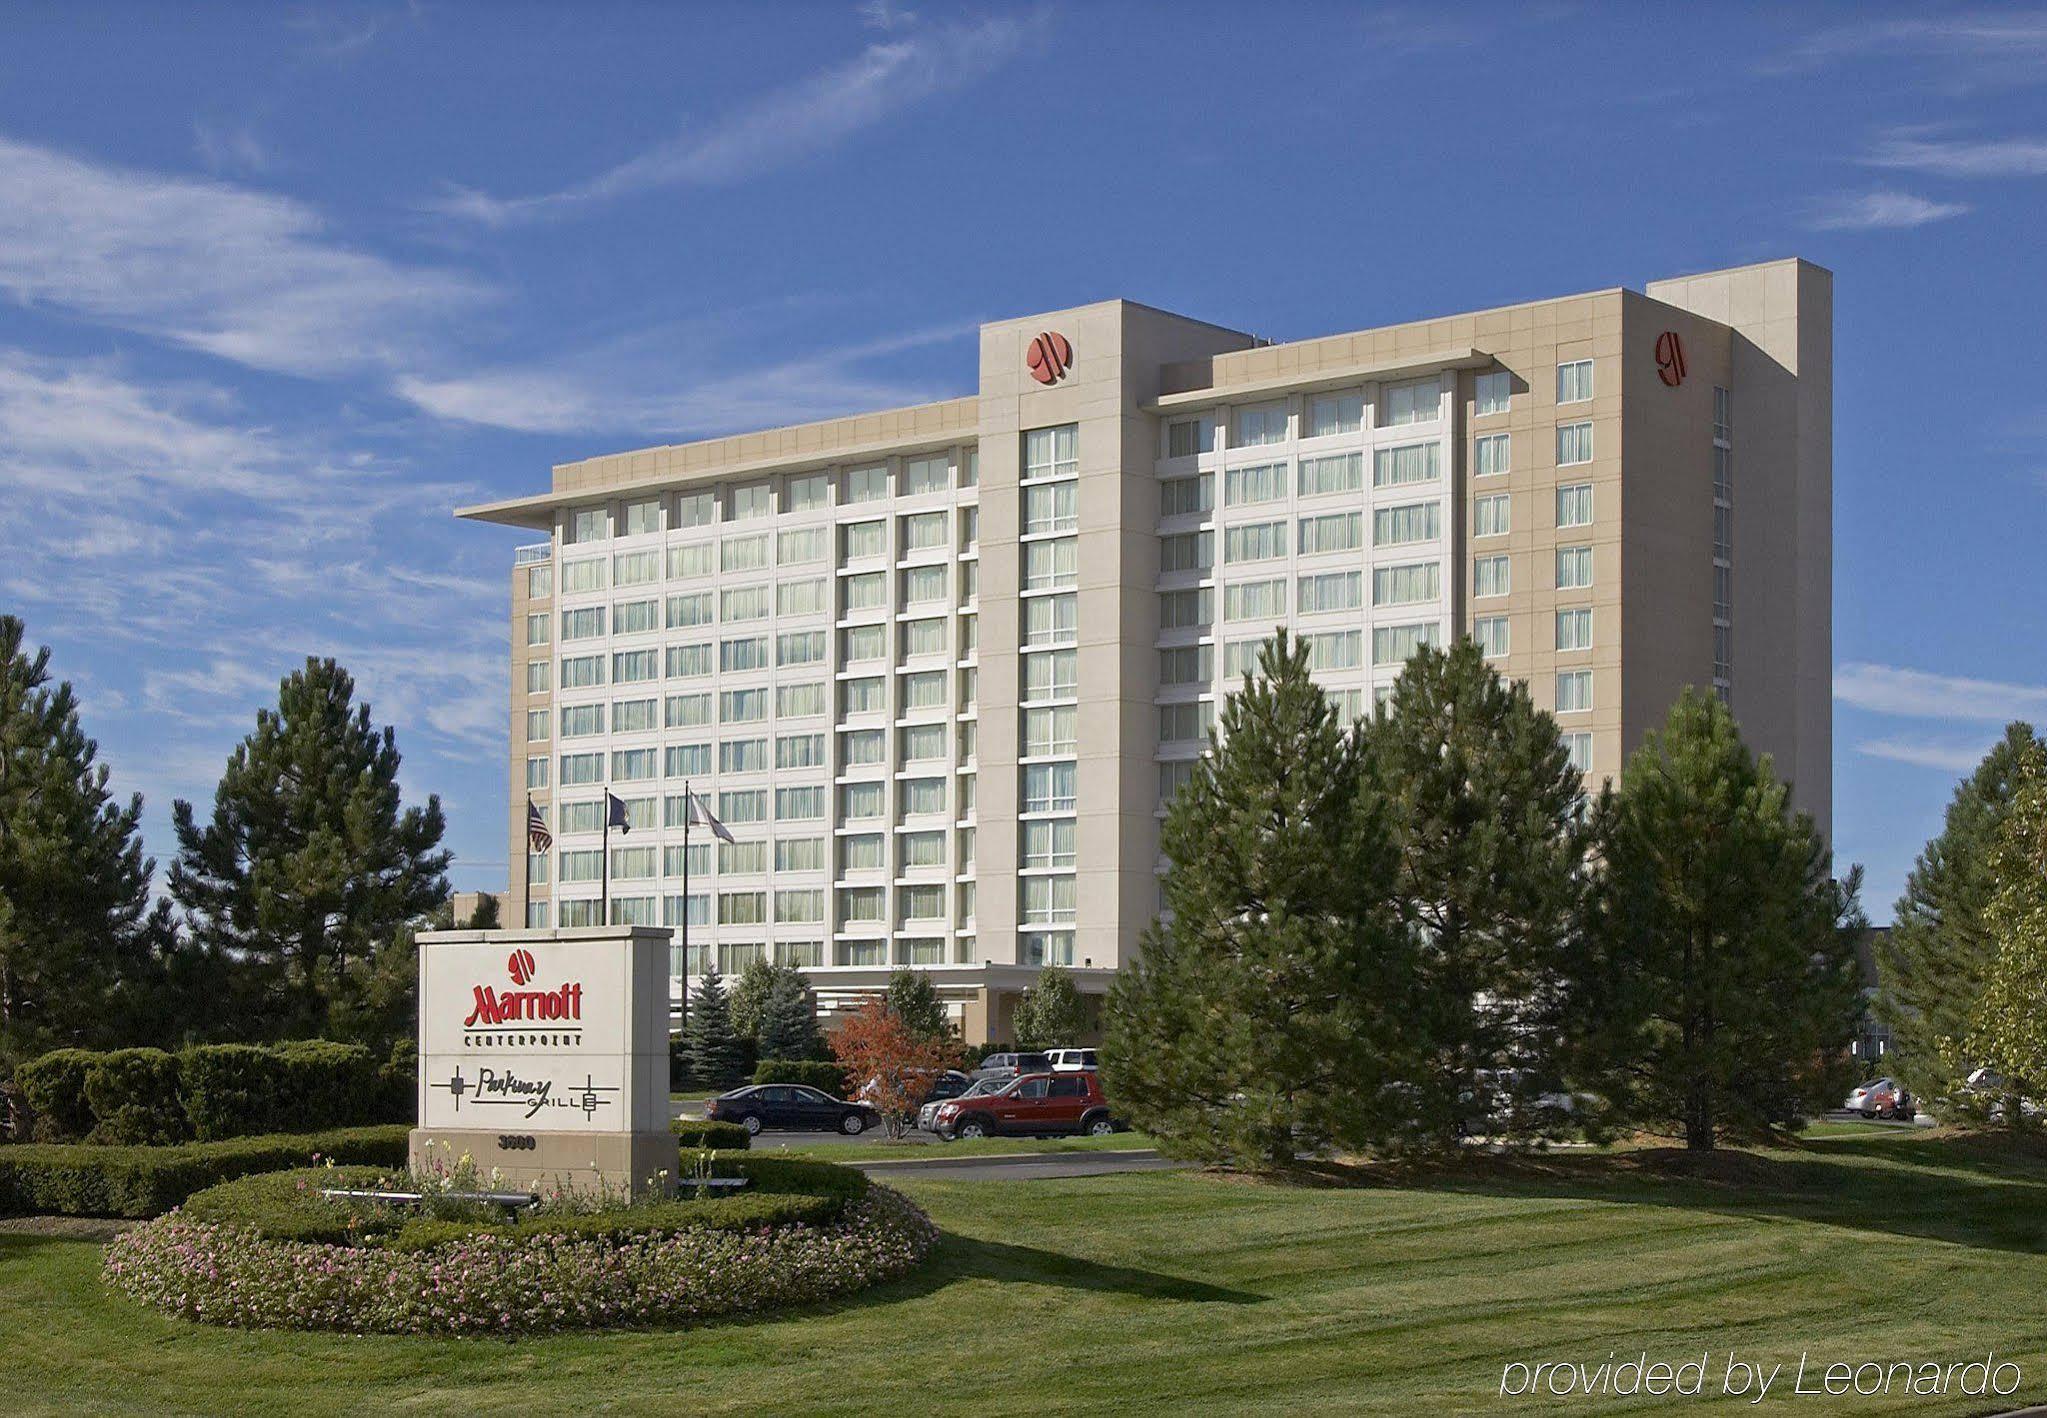
[[[1355,741],[1281,630],[1175,798],[1171,913],[1118,976],[1109,1091],[1175,1154],[1286,1168],[1371,1146],[1402,1076],[1396,866]]]

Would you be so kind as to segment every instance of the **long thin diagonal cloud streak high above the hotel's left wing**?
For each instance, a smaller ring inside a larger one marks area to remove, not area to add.
[[[510,198],[454,188],[432,207],[506,225],[563,217],[655,188],[743,182],[817,158],[907,108],[974,84],[1024,47],[1040,14],[915,29],[872,43],[847,63],[688,129],[585,182]]]

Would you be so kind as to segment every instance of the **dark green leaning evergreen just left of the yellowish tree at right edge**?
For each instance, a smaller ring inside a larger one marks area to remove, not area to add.
[[[1893,1054],[1885,1062],[1920,1097],[1965,1097],[1967,1066],[1953,1044],[1967,1033],[1998,954],[1984,925],[1998,888],[1994,855],[2018,767],[2039,749],[2031,724],[2010,724],[1957,784],[1941,835],[1914,863],[1877,943],[1877,1017],[1891,1029]]]

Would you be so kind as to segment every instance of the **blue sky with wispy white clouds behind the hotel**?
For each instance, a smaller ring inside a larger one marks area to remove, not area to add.
[[[2043,90],[2039,8],[16,6],[0,608],[158,857],[336,655],[491,886],[526,538],[452,505],[966,393],[1036,309],[1290,340],[1799,254],[1881,921],[2047,718]]]

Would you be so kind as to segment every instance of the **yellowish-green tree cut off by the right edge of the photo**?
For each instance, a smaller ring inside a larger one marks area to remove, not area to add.
[[[2047,747],[2022,747],[2010,786],[1992,853],[1996,890],[1984,906],[1990,968],[1967,1033],[1945,1054],[1963,1076],[1973,1068],[1998,1074],[2004,1119],[2018,1127],[2027,1121],[2020,1101],[2047,1097]]]

